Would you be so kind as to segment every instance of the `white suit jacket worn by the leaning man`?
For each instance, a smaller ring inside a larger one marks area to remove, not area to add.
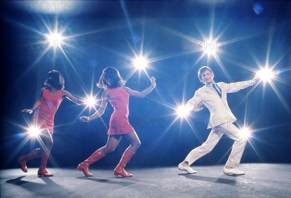
[[[226,94],[237,92],[253,85],[254,83],[256,83],[255,80],[233,83],[218,82],[216,84],[220,88],[219,91],[221,91],[221,98],[211,85],[204,85],[199,88],[195,92],[194,97],[187,102],[186,108],[192,110],[195,103],[202,102],[210,111],[210,119],[207,129],[224,123],[233,123],[237,119],[228,107]]]

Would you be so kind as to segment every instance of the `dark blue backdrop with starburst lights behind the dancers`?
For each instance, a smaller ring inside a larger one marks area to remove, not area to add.
[[[145,98],[129,99],[130,122],[142,142],[132,165],[139,166],[177,165],[206,140],[210,130],[200,121],[209,119],[208,110],[193,115],[189,125],[185,119],[174,122],[173,109],[202,86],[197,79],[201,66],[210,66],[215,80],[224,82],[248,80],[259,66],[274,66],[273,87],[265,83],[253,91],[246,88],[228,94],[228,104],[240,123],[255,131],[242,162],[291,162],[290,2],[1,1],[0,5],[1,168],[17,167],[17,158],[33,147],[30,141],[21,145],[25,137],[19,134],[32,117],[21,109],[32,106],[50,70],[63,74],[65,90],[73,95],[84,98],[92,90],[100,99],[102,90],[95,84],[107,66],[129,78],[127,85],[134,90],[150,85],[146,72],[157,79],[157,88]],[[46,50],[45,34],[55,27],[63,31],[63,51],[51,43]],[[202,56],[200,44],[210,36],[216,55]],[[129,77],[135,54],[147,56],[150,68]],[[105,124],[101,119],[81,123],[79,116],[89,115],[89,109],[83,110],[84,106],[67,99],[60,105],[55,115],[53,165],[77,166],[105,145],[113,108],[107,106],[102,116]],[[232,143],[223,137],[196,164],[224,163]],[[116,165],[127,147],[123,140],[96,165]]]

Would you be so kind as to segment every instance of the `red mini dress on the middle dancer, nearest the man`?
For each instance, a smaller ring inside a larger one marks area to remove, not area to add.
[[[113,113],[109,121],[109,135],[122,135],[134,132],[129,124],[129,93],[124,87],[106,89],[109,92],[109,102],[113,106]]]

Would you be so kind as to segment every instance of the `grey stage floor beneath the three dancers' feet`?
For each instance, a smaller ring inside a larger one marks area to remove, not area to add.
[[[48,168],[53,177],[19,169],[0,170],[1,198],[291,198],[290,164],[243,164],[246,174],[227,176],[223,166],[126,168],[131,178],[115,177],[113,168]]]

